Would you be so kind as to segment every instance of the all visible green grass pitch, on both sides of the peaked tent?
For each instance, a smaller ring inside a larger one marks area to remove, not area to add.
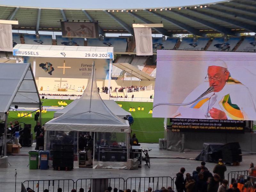
[[[57,106],[58,101],[55,99],[44,99],[43,106]],[[64,101],[64,100],[62,100]],[[66,103],[71,103],[73,100],[65,100]],[[136,137],[141,143],[158,143],[159,138],[164,138],[164,118],[153,118],[152,114],[148,114],[149,110],[152,108],[153,103],[151,102],[125,102],[119,101],[116,103],[121,103],[123,109],[128,111],[130,107],[136,109],[135,112],[130,112],[134,118],[134,123],[131,125],[132,133],[136,133]],[[144,107],[144,111],[138,111],[138,107]],[[65,106],[63,106],[65,107]],[[8,123],[19,118],[19,111],[10,111],[8,116]],[[25,112],[25,111],[23,111]],[[29,111],[27,111],[29,113]],[[47,113],[42,113],[42,124],[50,121],[53,118],[55,111],[47,111]],[[31,124],[32,132],[34,133],[34,126],[36,121],[34,120],[34,114],[32,117],[22,117],[18,121],[20,123],[25,122],[25,124]],[[35,138],[35,137],[34,137]]]

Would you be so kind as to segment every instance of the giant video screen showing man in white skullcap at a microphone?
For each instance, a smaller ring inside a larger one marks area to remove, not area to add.
[[[153,117],[255,120],[255,60],[255,53],[250,52],[157,50],[154,105],[189,103],[210,84],[215,92],[186,106],[157,106]],[[219,67],[208,68],[212,65]],[[228,74],[225,71],[230,75],[227,82],[223,81]],[[209,114],[209,110],[214,114]]]

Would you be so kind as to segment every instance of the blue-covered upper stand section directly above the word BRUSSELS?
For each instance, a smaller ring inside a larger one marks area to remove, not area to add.
[[[23,34],[25,44],[52,45],[51,35],[40,35],[38,38],[33,34]]]

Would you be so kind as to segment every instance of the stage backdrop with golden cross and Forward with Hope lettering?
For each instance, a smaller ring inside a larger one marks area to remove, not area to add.
[[[32,64],[33,59],[33,57],[27,57],[24,60],[24,62],[29,62]],[[37,57],[35,76],[62,78],[90,78],[93,61],[95,61],[96,79],[108,79],[109,60],[107,59],[64,59]]]

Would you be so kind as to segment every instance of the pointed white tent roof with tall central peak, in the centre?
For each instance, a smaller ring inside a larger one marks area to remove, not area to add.
[[[127,120],[116,116],[100,98],[95,71],[74,106],[45,124],[46,131],[131,132]]]

